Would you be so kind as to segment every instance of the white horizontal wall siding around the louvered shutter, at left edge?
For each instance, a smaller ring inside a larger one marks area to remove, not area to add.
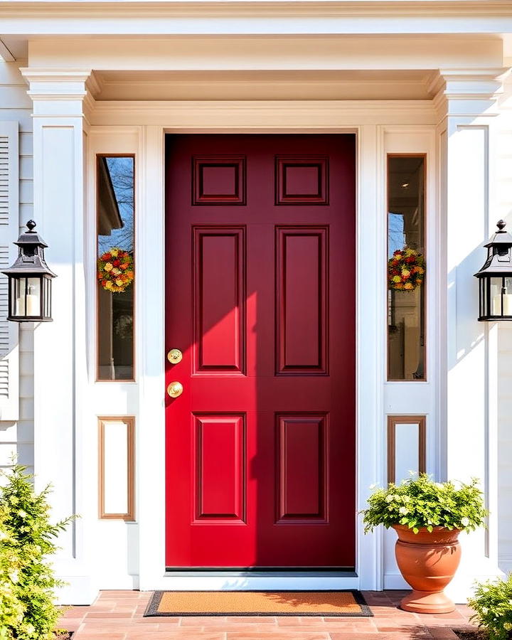
[[[19,123],[19,227],[33,212],[32,189],[32,102],[18,68],[26,60],[0,62],[0,121]],[[21,325],[19,334],[20,387],[18,422],[0,422],[0,468],[18,462],[33,466],[33,328]]]

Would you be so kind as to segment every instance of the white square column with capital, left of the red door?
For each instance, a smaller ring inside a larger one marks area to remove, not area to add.
[[[84,287],[84,170],[90,70],[21,70],[33,100],[34,219],[46,240],[53,281],[53,322],[34,327],[34,469],[36,489],[53,486],[55,520],[75,513],[55,560],[69,583],[61,602],[95,597],[87,562],[86,492],[97,469],[82,464],[87,401]],[[90,426],[90,425],[89,425]]]

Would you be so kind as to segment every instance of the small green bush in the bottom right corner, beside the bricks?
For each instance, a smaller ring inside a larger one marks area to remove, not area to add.
[[[490,640],[512,638],[512,574],[496,582],[478,582],[468,604],[476,612],[471,620],[488,631]]]

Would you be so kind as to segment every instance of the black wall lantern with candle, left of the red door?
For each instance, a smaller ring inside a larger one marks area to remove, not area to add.
[[[33,220],[28,220],[26,226],[28,231],[14,242],[19,247],[16,262],[2,271],[9,278],[7,319],[14,322],[50,322],[51,280],[55,274],[44,259],[48,245],[34,231],[36,223]]]

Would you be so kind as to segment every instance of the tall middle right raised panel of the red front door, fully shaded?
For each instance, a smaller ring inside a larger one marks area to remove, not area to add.
[[[276,245],[277,373],[325,375],[328,228],[277,227]]]

